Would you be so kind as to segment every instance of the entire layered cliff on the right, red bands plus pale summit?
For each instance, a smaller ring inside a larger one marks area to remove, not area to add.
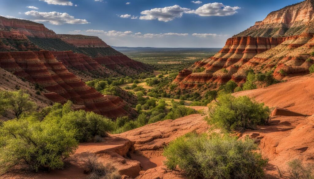
[[[311,9],[313,9],[312,1],[307,0],[270,13],[264,21],[257,22],[253,27],[258,28],[275,22],[288,26],[294,26],[300,21],[310,23]],[[244,83],[246,71],[249,69],[253,69],[256,73],[273,71],[273,76],[279,80],[309,74],[309,67],[313,64],[313,60],[308,59],[313,58],[310,53],[313,51],[314,33],[302,32],[292,36],[264,37],[265,34],[263,35],[261,31],[253,32],[252,28],[245,32],[252,32],[252,34],[250,36],[238,34],[228,39],[223,49],[216,55],[198,61],[189,68],[192,71],[203,67],[205,71],[191,74],[181,72],[174,82],[180,88],[193,88],[201,92],[204,88],[216,88],[229,80]]]

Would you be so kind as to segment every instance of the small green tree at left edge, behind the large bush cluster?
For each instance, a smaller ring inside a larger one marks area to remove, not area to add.
[[[6,107],[14,112],[16,118],[21,114],[31,112],[36,108],[36,104],[30,101],[30,95],[24,90],[19,91],[2,91],[0,92],[0,101]]]

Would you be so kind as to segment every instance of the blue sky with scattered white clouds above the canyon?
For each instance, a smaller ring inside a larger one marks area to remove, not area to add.
[[[128,47],[222,47],[268,13],[300,0],[0,0],[0,15],[57,34]]]

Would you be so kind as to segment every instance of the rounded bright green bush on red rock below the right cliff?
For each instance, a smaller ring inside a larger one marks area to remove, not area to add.
[[[266,124],[270,110],[247,96],[220,94],[218,103],[209,106],[209,123],[227,131],[254,129]]]

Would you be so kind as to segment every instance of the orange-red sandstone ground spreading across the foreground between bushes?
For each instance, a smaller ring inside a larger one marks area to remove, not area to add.
[[[256,130],[236,133],[241,138],[247,135],[259,144],[263,157],[269,159],[265,168],[265,178],[279,178],[279,170],[285,174],[286,163],[300,159],[305,163],[314,162],[314,75],[294,77],[287,82],[270,87],[235,93],[235,96],[256,97],[273,107],[269,125],[258,126]],[[298,90],[298,88],[304,90]],[[295,88],[295,89],[294,89]],[[294,95],[289,95],[290,89]],[[273,100],[270,100],[273,99]],[[289,103],[290,102],[290,103]],[[289,103],[289,104],[288,104]],[[307,107],[305,108],[306,105]],[[206,109],[206,107],[198,107]],[[22,171],[12,171],[7,178],[85,178],[85,167],[80,156],[86,152],[95,153],[104,163],[112,163],[123,178],[170,179],[185,178],[182,171],[169,171],[163,166],[164,146],[188,132],[208,132],[210,126],[202,114],[192,114],[175,120],[165,120],[149,124],[122,134],[110,135],[100,143],[81,143],[76,154],[69,159],[64,170],[30,175]]]

